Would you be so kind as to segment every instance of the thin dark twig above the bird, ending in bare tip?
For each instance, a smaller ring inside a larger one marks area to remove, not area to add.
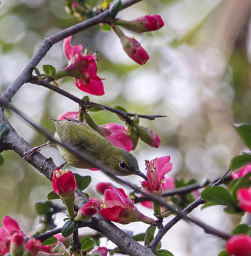
[[[30,78],[30,80],[28,82],[31,82],[35,85],[42,85],[43,87],[46,87],[50,90],[53,90],[53,91],[59,93],[60,95],[63,95],[65,97],[69,98],[70,100],[73,100],[74,102],[77,102],[82,107],[91,106],[91,105],[99,106],[99,107],[102,107],[104,110],[108,110],[110,112],[113,112],[115,114],[120,115],[121,117],[123,117],[128,122],[130,122],[130,120],[128,120],[128,117],[135,117],[135,114],[133,114],[133,113],[128,113],[128,112],[124,112],[124,111],[121,111],[121,110],[116,110],[113,107],[108,107],[106,105],[102,105],[102,104],[99,104],[99,103],[96,103],[96,102],[81,100],[78,97],[70,94],[69,92],[66,92],[65,90],[62,90],[59,87],[56,87],[55,85],[52,85],[50,82],[47,82],[45,80],[39,80],[38,78],[36,78],[34,76],[32,78]],[[138,117],[154,120],[157,117],[166,117],[166,116],[160,115],[160,114],[155,114],[155,115],[138,114]]]

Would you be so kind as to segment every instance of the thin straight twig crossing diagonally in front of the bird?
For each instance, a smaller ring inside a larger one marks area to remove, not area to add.
[[[118,182],[123,183],[126,186],[129,186],[130,188],[133,188],[133,190],[137,191],[138,193],[142,193],[144,196],[149,198],[150,201],[155,201],[156,203],[160,203],[161,206],[166,207],[167,209],[172,211],[172,213],[175,213],[179,218],[184,218],[185,220],[188,220],[189,222],[194,223],[195,225],[198,225],[199,227],[203,228],[203,230],[205,230],[206,233],[213,234],[213,235],[217,234],[218,237],[223,238],[225,240],[230,238],[230,235],[228,233],[223,233],[219,230],[216,230],[215,228],[212,228],[210,225],[203,223],[201,220],[196,220],[194,218],[190,218],[185,213],[182,213],[182,211],[177,210],[177,208],[175,208],[171,204],[167,203],[166,201],[162,200],[162,198],[160,198],[160,196],[153,195],[151,193],[145,193],[144,191],[141,191],[140,188],[132,185],[128,181],[125,181],[124,178],[115,176],[113,174],[113,171],[108,166],[101,164],[99,161],[96,161],[96,159],[93,156],[91,156],[90,154],[84,153],[84,152],[76,150],[76,149],[72,149],[72,147],[69,146],[69,144],[67,144],[65,142],[57,141],[56,139],[54,139],[53,135],[50,134],[50,132],[48,132],[43,127],[40,127],[38,124],[35,124],[34,122],[32,122],[28,117],[26,117],[24,114],[22,114],[21,112],[16,110],[14,107],[12,107],[11,105],[9,105],[7,107],[10,110],[12,110],[13,112],[15,112],[16,114],[18,114],[18,116],[20,116],[22,119],[26,120],[26,122],[28,122],[33,127],[35,127],[35,129],[38,129],[38,131],[43,132],[43,134],[45,134],[45,136],[48,137],[48,139],[50,139],[51,142],[54,142],[55,144],[58,144],[60,146],[64,146],[65,149],[68,149],[76,156],[79,156],[80,158],[84,159],[85,161],[89,162],[90,164],[93,164],[96,168],[101,169],[101,171],[103,171],[104,174],[116,179]]]

